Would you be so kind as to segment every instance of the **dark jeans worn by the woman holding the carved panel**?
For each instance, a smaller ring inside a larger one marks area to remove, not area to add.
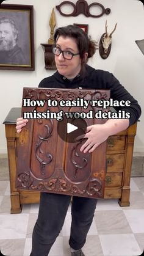
[[[31,256],[47,256],[62,229],[71,196],[42,192],[38,219],[32,234]],[[85,244],[92,224],[96,199],[73,197],[71,206],[71,235],[69,244],[79,250]]]

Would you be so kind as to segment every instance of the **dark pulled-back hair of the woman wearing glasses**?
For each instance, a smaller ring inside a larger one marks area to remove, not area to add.
[[[95,54],[97,45],[96,42],[88,38],[88,35],[76,25],[68,25],[65,27],[59,27],[54,33],[54,43],[57,42],[58,38],[62,37],[71,37],[76,40],[77,48],[79,49],[79,55],[82,59],[82,64],[86,62],[84,60],[84,53],[88,53],[88,58],[92,57]]]

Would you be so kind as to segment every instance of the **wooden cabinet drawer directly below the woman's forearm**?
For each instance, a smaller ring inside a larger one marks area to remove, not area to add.
[[[107,151],[111,150],[124,150],[126,143],[126,136],[114,135],[107,139]]]

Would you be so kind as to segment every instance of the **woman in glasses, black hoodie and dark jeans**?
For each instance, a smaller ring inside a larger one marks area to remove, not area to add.
[[[87,128],[81,151],[93,152],[107,137],[128,128],[140,117],[140,106],[137,101],[121,86],[120,82],[109,72],[95,70],[86,64],[87,59],[95,54],[96,43],[88,38],[82,29],[76,26],[60,27],[54,34],[55,61],[57,71],[43,79],[39,87],[76,89],[110,89],[113,100],[130,100],[131,106],[116,108],[130,113],[129,119],[109,119],[103,125],[91,125]],[[18,133],[28,120],[17,119]],[[38,219],[32,236],[31,256],[47,256],[52,244],[62,229],[71,196],[41,192]],[[82,246],[96,208],[96,199],[73,197],[71,206],[71,235],[69,244],[71,256],[84,256]]]

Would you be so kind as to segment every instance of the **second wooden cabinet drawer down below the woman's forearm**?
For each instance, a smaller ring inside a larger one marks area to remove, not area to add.
[[[123,172],[124,154],[107,154],[107,172]]]

